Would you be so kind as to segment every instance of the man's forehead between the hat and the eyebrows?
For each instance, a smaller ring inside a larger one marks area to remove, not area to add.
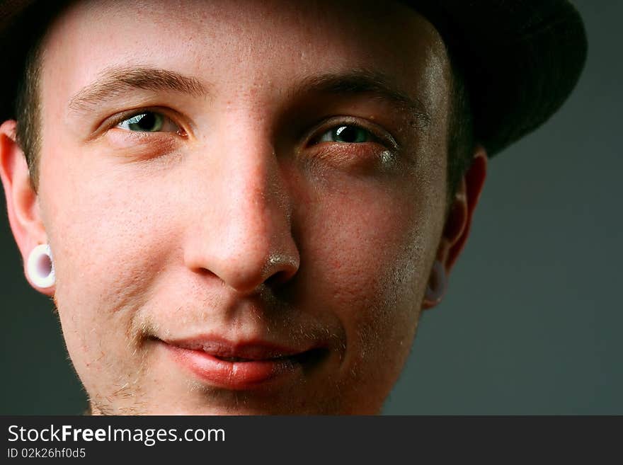
[[[256,90],[365,69],[433,108],[449,74],[435,28],[398,2],[85,0],[57,18],[44,45],[45,76],[65,96],[132,64]]]

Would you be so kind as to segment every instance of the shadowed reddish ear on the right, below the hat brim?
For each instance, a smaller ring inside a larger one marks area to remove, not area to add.
[[[435,257],[436,265],[430,272],[428,289],[422,304],[430,309],[442,300],[447,276],[455,265],[469,236],[471,219],[480,198],[486,178],[488,158],[484,147],[476,146],[471,166],[465,172],[447,213],[442,238]]]

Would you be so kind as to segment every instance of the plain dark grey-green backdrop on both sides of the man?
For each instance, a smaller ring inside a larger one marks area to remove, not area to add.
[[[623,414],[623,2],[576,1],[590,52],[564,108],[493,159],[445,301],[387,414]],[[0,414],[86,406],[49,299],[0,219]]]

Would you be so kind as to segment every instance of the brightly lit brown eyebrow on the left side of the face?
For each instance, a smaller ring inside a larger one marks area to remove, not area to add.
[[[112,67],[105,69],[95,81],[76,93],[69,101],[69,108],[85,110],[134,89],[173,91],[194,97],[207,94],[207,88],[198,79],[176,71],[152,67]]]

